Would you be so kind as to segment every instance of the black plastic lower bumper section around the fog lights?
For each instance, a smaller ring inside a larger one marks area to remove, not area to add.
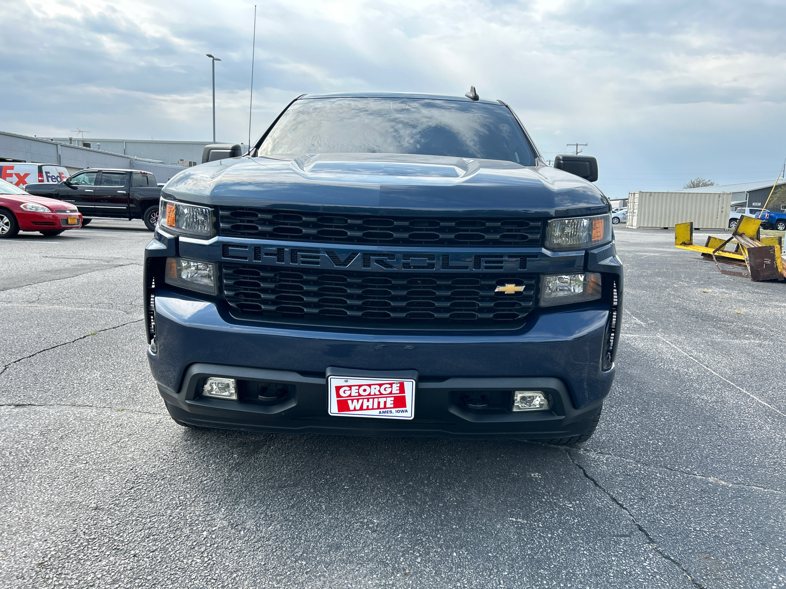
[[[381,375],[381,374],[380,374]],[[237,379],[241,400],[202,397],[204,379]],[[258,390],[277,390],[263,401]],[[551,409],[511,412],[506,399],[513,390],[542,390]],[[191,364],[181,389],[159,384],[173,419],[193,426],[281,434],[340,434],[365,436],[435,436],[553,439],[582,434],[601,410],[602,401],[576,409],[563,381],[554,378],[446,378],[421,380],[414,419],[334,417],[328,414],[324,376],[298,372]],[[485,400],[486,408],[471,401]]]

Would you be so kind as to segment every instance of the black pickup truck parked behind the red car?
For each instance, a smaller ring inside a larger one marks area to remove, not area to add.
[[[143,170],[79,170],[60,183],[32,184],[30,194],[75,204],[84,218],[141,219],[153,231],[158,222],[161,188],[156,176]]]

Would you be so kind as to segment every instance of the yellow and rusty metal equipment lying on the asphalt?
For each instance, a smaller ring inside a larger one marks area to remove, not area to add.
[[[698,251],[704,258],[712,258],[722,274],[756,281],[784,280],[786,273],[780,238],[762,237],[759,232],[761,224],[761,219],[742,217],[728,240],[707,236],[707,243],[699,246],[693,245],[693,224],[678,223],[674,226],[674,245],[681,250]],[[726,250],[732,240],[736,240],[736,247],[733,251]],[[723,269],[721,263],[744,266],[747,272]]]

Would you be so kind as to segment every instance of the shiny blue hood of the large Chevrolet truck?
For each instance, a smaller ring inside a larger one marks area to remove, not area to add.
[[[162,196],[213,206],[391,215],[565,217],[611,210],[595,185],[550,166],[380,153],[222,159],[183,170]]]

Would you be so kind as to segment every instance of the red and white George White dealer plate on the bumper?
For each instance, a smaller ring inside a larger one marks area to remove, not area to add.
[[[328,377],[330,415],[412,419],[414,404],[413,379]]]

